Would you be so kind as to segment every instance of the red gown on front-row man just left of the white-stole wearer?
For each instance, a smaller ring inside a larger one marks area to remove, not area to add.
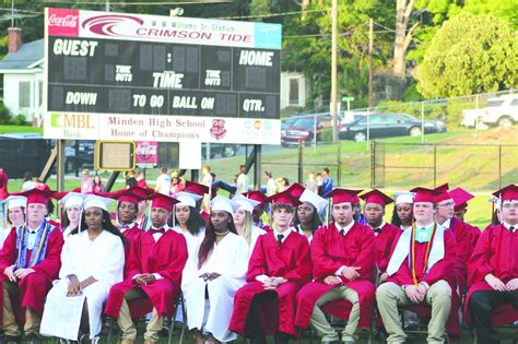
[[[341,236],[334,223],[329,228],[319,228],[311,241],[313,274],[315,282],[306,284],[297,294],[297,315],[295,324],[306,329],[311,319],[317,300],[337,285],[327,285],[323,278],[334,273],[343,265],[360,266],[360,278],[348,281],[340,276],[342,284],[354,289],[360,297],[360,327],[370,324],[373,301],[375,295],[374,269],[376,260],[376,244],[374,232],[369,227],[355,223],[345,236]],[[340,315],[339,303],[330,304],[329,311]],[[348,309],[349,311],[349,309]]]

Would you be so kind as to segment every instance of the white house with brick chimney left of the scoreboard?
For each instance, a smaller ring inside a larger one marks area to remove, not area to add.
[[[9,28],[9,54],[0,61],[3,74],[3,103],[27,121],[42,115],[44,39],[22,44],[22,32]]]

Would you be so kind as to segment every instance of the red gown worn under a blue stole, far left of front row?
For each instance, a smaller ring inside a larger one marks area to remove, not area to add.
[[[42,230],[42,229],[40,229]],[[61,248],[63,246],[63,236],[59,228],[55,228],[48,234],[47,248],[45,258],[33,269],[35,272],[28,274],[25,278],[17,282],[20,287],[20,303],[15,301],[13,312],[21,313],[21,309],[31,307],[36,313],[43,316],[45,297],[51,287],[54,280],[58,277],[59,269],[61,268]],[[31,258],[31,252],[27,250],[27,261]],[[0,251],[0,292],[3,294],[3,281],[8,281],[8,276],[3,274],[5,268],[14,264],[17,259],[16,250],[16,229],[13,227],[11,233],[3,244]],[[3,319],[3,297],[0,297],[0,323]]]

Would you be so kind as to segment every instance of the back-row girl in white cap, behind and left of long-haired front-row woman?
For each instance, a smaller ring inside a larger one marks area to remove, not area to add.
[[[177,192],[174,198],[179,203],[175,204],[175,226],[173,229],[186,238],[189,257],[197,256],[201,241],[205,236],[205,221],[196,209],[196,202],[201,200],[202,197],[189,192]]]

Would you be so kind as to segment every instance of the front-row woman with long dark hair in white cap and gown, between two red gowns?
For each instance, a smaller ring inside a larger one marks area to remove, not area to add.
[[[237,235],[232,214],[238,204],[215,197],[199,254],[189,257],[184,269],[187,323],[197,330],[197,343],[229,342],[237,334],[228,331],[234,296],[244,284],[248,269],[248,242]],[[207,298],[205,298],[207,296]]]

